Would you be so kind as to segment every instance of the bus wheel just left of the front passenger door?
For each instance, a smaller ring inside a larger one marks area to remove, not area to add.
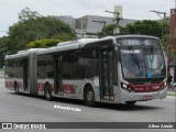
[[[89,107],[95,106],[95,92],[91,86],[88,86],[85,90],[85,103]]]

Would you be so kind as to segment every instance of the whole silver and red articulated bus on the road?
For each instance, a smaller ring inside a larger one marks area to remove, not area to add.
[[[59,43],[6,56],[6,88],[16,94],[134,105],[164,99],[166,63],[161,42],[119,35]]]

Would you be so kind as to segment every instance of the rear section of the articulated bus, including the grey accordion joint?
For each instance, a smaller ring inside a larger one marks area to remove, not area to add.
[[[4,85],[6,88],[16,94],[37,95],[36,89],[36,51],[20,51],[4,58]]]

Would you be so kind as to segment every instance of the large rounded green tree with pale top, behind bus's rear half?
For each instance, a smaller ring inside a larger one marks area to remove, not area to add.
[[[8,48],[11,54],[26,48],[26,44],[36,40],[58,38],[70,41],[76,38],[73,29],[53,16],[42,16],[29,8],[19,13],[19,22],[9,28]]]

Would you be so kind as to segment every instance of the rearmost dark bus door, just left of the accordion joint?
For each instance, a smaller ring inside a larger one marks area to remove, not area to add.
[[[29,90],[29,59],[23,59],[23,89]]]

